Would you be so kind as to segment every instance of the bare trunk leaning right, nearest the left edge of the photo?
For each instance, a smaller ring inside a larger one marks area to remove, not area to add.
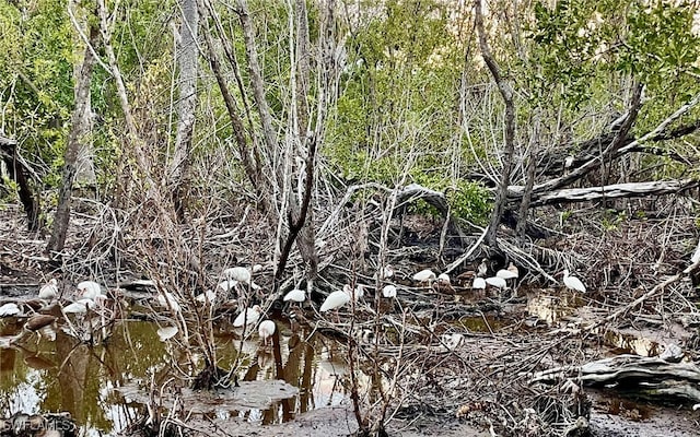
[[[69,4],[69,8],[71,5]],[[97,39],[97,28],[90,26],[90,44]],[[71,117],[71,129],[68,135],[68,145],[66,146],[63,179],[58,194],[58,206],[56,216],[54,217],[54,228],[49,238],[47,252],[54,258],[58,252],[63,250],[66,244],[66,234],[70,222],[71,196],[73,192],[73,182],[78,172],[78,154],[81,150],[81,142],[85,134],[85,120],[89,115],[85,114],[90,109],[90,80],[92,78],[92,68],[95,62],[90,47],[85,47],[83,62],[80,68],[75,81],[75,108]]]

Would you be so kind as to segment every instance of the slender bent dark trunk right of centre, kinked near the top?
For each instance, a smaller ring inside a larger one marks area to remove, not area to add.
[[[483,13],[481,11],[481,0],[474,1],[475,21],[477,27],[477,34],[479,36],[479,48],[481,49],[481,56],[493,76],[493,81],[503,96],[505,103],[505,144],[503,144],[503,173],[501,174],[501,181],[499,182],[495,192],[495,203],[493,204],[493,212],[491,213],[491,220],[489,223],[489,229],[486,235],[486,243],[491,246],[497,246],[495,233],[501,222],[501,215],[503,215],[503,209],[508,200],[508,186],[511,184],[511,172],[513,170],[513,151],[515,149],[515,105],[513,103],[513,90],[511,84],[501,76],[498,63],[491,55],[489,43],[486,39],[486,31],[483,28]]]

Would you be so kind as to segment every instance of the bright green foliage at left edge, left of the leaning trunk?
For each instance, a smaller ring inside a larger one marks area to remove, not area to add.
[[[71,37],[63,1],[40,0],[22,12],[0,1],[0,125],[48,173],[60,167],[68,132]]]

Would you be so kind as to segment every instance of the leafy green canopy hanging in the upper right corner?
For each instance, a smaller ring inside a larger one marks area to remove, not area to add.
[[[697,80],[684,75],[699,71],[700,39],[691,32],[696,8],[689,1],[536,3],[528,28],[533,95],[561,95],[559,102],[579,109],[602,90],[614,92],[610,79],[625,73],[646,85],[648,96],[664,96],[646,104],[641,117],[667,116],[668,97],[687,102],[698,91]],[[603,96],[604,103],[609,98]]]

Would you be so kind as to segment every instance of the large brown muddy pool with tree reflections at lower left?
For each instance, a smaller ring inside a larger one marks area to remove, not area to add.
[[[22,326],[23,320],[0,319],[0,340],[18,335]],[[236,376],[241,387],[220,390],[220,394],[218,394],[217,399],[180,390],[188,409],[207,417],[272,424],[347,399],[347,367],[342,351],[334,350],[338,345],[319,335],[303,341],[308,332],[292,332],[281,321],[277,326],[285,381],[273,381],[271,345],[262,346],[257,335],[241,342],[219,332],[219,366],[232,368],[240,358]],[[173,342],[160,341],[156,330],[152,322],[120,322],[106,343],[94,347],[60,328],[23,335],[11,347],[0,349],[0,412],[67,411],[83,428],[83,435],[116,435],[138,417],[151,383],[159,388],[187,386],[179,378],[184,367],[177,362],[182,354]],[[241,344],[243,353],[238,357]],[[201,361],[197,356],[195,359]]]

